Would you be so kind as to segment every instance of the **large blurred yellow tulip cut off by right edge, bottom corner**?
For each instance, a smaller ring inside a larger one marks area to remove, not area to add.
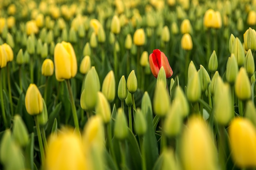
[[[245,118],[235,118],[228,128],[231,155],[240,168],[256,166],[256,130]]]

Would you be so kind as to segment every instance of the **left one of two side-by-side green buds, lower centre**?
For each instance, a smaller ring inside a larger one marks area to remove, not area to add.
[[[127,120],[122,108],[117,110],[114,133],[115,137],[119,140],[124,140],[128,136]]]

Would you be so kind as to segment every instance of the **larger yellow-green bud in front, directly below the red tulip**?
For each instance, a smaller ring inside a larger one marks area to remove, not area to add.
[[[170,96],[164,86],[164,82],[159,82],[155,88],[153,98],[153,109],[156,115],[164,117],[168,113],[170,107]]]

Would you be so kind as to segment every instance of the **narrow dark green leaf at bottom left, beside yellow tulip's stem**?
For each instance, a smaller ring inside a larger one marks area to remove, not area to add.
[[[31,133],[25,149],[25,168],[34,170],[34,133]]]

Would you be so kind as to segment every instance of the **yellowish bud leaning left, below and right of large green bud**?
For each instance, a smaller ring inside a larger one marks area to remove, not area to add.
[[[98,101],[95,107],[96,114],[100,115],[103,122],[107,124],[111,118],[110,104],[103,93],[98,92],[97,95]]]

